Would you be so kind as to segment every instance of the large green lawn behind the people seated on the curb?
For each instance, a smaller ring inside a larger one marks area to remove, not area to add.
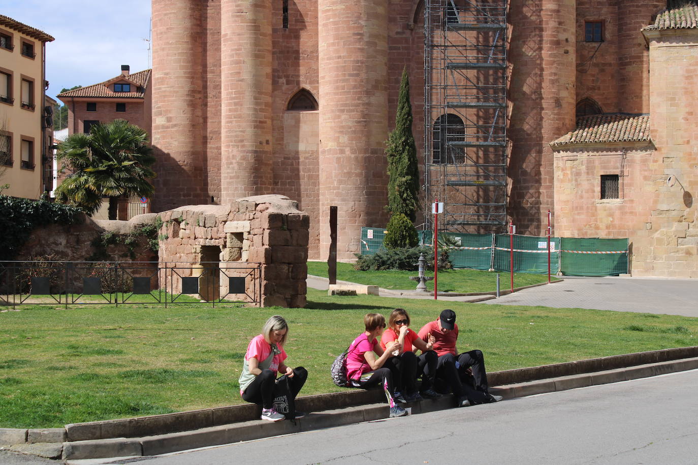
[[[0,313],[0,427],[60,427],[241,403],[248,341],[272,314],[290,324],[302,395],[337,392],[329,366],[366,312],[410,312],[413,328],[448,306],[459,350],[482,349],[490,371],[695,345],[698,319],[669,315],[443,303],[308,291],[304,309],[59,305]]]

